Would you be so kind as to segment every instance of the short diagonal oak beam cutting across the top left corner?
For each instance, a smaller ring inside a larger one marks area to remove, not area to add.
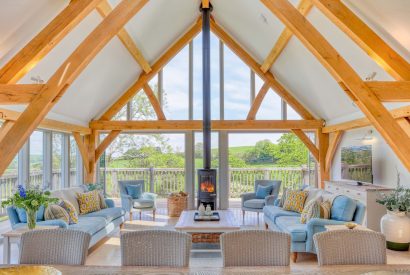
[[[0,69],[0,83],[17,83],[46,56],[100,0],[72,0],[39,34]]]

